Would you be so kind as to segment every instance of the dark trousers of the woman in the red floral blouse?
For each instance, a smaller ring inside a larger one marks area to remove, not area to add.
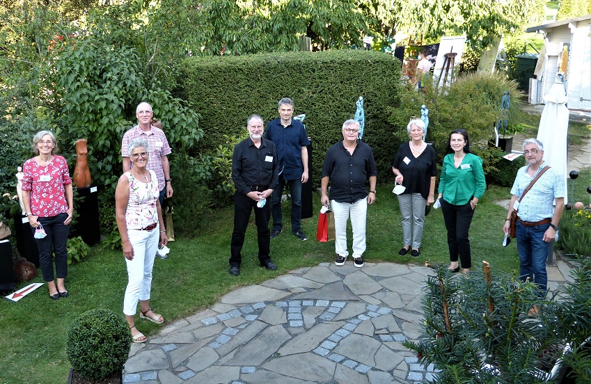
[[[46,237],[35,239],[37,248],[39,248],[39,265],[43,280],[54,281],[54,257],[56,254],[56,275],[58,279],[63,279],[68,275],[68,234],[70,234],[70,225],[63,225],[68,214],[57,214],[51,217],[40,217],[37,221],[43,226]],[[31,227],[33,234],[36,228]]]

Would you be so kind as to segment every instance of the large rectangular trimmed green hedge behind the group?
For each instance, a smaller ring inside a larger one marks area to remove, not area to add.
[[[256,113],[265,122],[278,118],[277,102],[294,100],[294,115],[306,113],[313,145],[313,177],[320,184],[324,154],[342,140],[341,127],[354,118],[363,96],[363,141],[372,147],[378,178],[391,179],[391,162],[400,142],[388,122],[397,104],[400,61],[375,51],[288,52],[187,58],[180,65],[180,97],[199,111],[205,136],[198,152],[214,153],[223,134],[244,136],[246,118]],[[196,156],[197,153],[192,153]]]

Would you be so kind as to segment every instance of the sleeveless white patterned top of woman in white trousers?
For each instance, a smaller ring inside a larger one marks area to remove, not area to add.
[[[141,230],[158,223],[156,202],[159,191],[156,174],[150,169],[151,182],[141,182],[131,171],[124,173],[129,179],[129,201],[125,210],[125,224],[128,230]]]

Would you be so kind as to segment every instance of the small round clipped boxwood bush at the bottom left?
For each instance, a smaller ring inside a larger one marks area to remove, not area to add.
[[[104,308],[84,312],[68,327],[68,383],[123,383],[131,344],[132,332],[123,317]]]

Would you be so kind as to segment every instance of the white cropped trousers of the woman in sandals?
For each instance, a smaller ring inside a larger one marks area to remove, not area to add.
[[[158,250],[160,226],[151,231],[127,230],[129,242],[134,248],[134,258],[125,259],[127,264],[127,288],[123,298],[123,314],[136,314],[138,301],[150,299],[152,268]]]

